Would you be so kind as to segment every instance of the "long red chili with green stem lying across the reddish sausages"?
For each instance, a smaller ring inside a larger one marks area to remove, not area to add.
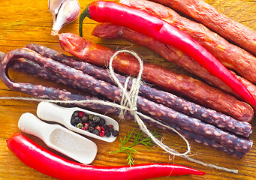
[[[113,1],[93,1],[80,16],[80,36],[83,36],[83,20],[89,17],[100,23],[113,23],[146,34],[163,43],[180,49],[199,62],[210,74],[222,80],[250,104],[256,101],[248,89],[221,62],[192,37],[164,20]]]

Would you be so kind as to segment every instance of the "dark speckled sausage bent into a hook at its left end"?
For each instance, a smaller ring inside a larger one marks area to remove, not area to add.
[[[84,90],[95,91],[115,102],[121,101],[122,92],[116,86],[112,86],[109,83],[101,80],[96,80],[87,74],[83,74],[81,71],[74,68],[68,68],[66,65],[62,65],[59,62],[54,62],[52,59],[38,55],[37,52],[27,48],[16,49],[9,52],[7,55],[5,55],[5,58],[3,58],[2,63],[0,64],[1,80],[12,89],[25,93],[27,92],[26,89],[29,89],[29,93],[32,92],[35,95],[38,94],[39,97],[44,97],[41,94],[44,93],[45,87],[38,86],[37,91],[33,91],[35,86],[27,83],[12,83],[8,78],[8,63],[15,58],[21,57],[28,58],[32,62],[37,62],[38,65],[55,74],[61,74],[63,78],[74,81],[74,83],[80,85],[80,87]],[[67,93],[67,95],[70,95],[70,93]],[[175,124],[176,126],[182,127],[185,130],[198,133],[200,136],[204,136],[207,139],[212,139],[219,142],[221,145],[225,145],[229,148],[235,149],[236,151],[247,153],[251,149],[251,140],[239,138],[238,136],[234,136],[233,134],[219,130],[210,124],[205,124],[196,118],[188,117],[187,115],[183,115],[182,113],[178,113],[170,108],[164,107],[161,104],[155,104],[146,98],[141,98],[140,96],[138,97],[137,108],[141,113],[150,115],[153,118],[157,118],[162,121],[166,121],[167,124]]]

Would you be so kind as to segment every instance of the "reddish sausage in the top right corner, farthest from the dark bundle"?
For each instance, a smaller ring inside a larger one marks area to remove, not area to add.
[[[152,0],[162,5],[172,7],[174,10],[204,24],[232,43],[247,49],[256,55],[256,33],[251,28],[243,26],[219,13],[203,0]]]

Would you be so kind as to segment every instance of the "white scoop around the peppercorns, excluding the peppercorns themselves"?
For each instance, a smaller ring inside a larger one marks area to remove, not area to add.
[[[79,108],[79,107],[66,108],[66,107],[59,107],[56,104],[51,104],[48,102],[41,102],[40,104],[38,104],[37,115],[39,118],[45,121],[57,122],[67,127],[69,130],[73,130],[74,132],[81,133],[86,136],[91,136],[95,139],[101,139],[106,142],[113,142],[114,140],[116,140],[116,136],[109,136],[109,137],[98,136],[94,133],[90,133],[86,130],[81,130],[80,128],[74,127],[71,124],[71,116],[75,111],[83,111],[86,114],[98,115],[101,118],[105,119],[107,125],[112,124],[114,130],[119,130],[119,124],[113,118],[110,118],[106,115],[94,113],[89,110],[83,110],[82,108]]]

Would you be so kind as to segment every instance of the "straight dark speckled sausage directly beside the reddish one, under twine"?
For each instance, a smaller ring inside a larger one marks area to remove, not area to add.
[[[98,80],[104,80],[107,83],[115,84],[110,78],[110,72],[106,69],[99,68],[87,62],[77,61],[71,56],[64,55],[60,52],[56,52],[53,49],[41,46],[39,44],[30,43],[26,45],[26,47],[35,50],[35,52],[44,55],[44,57],[52,58],[53,60],[68,65],[71,68],[83,71],[83,73],[89,74],[90,76],[95,77]],[[115,75],[119,79],[120,83],[125,84],[125,77],[119,74]],[[131,87],[131,81],[128,84],[128,87]],[[248,137],[251,134],[251,124],[247,122],[237,121],[236,119],[222,113],[218,113],[215,110],[200,107],[197,104],[185,101],[184,99],[179,98],[176,95],[172,95],[168,92],[163,92],[146,86],[145,84],[141,84],[140,95],[143,98],[147,98],[158,104],[163,104],[164,106],[170,107],[171,109],[176,110],[180,113],[185,113],[186,115],[193,118],[198,118],[201,121],[213,124],[223,130],[230,131],[231,133],[236,133],[245,137]]]

